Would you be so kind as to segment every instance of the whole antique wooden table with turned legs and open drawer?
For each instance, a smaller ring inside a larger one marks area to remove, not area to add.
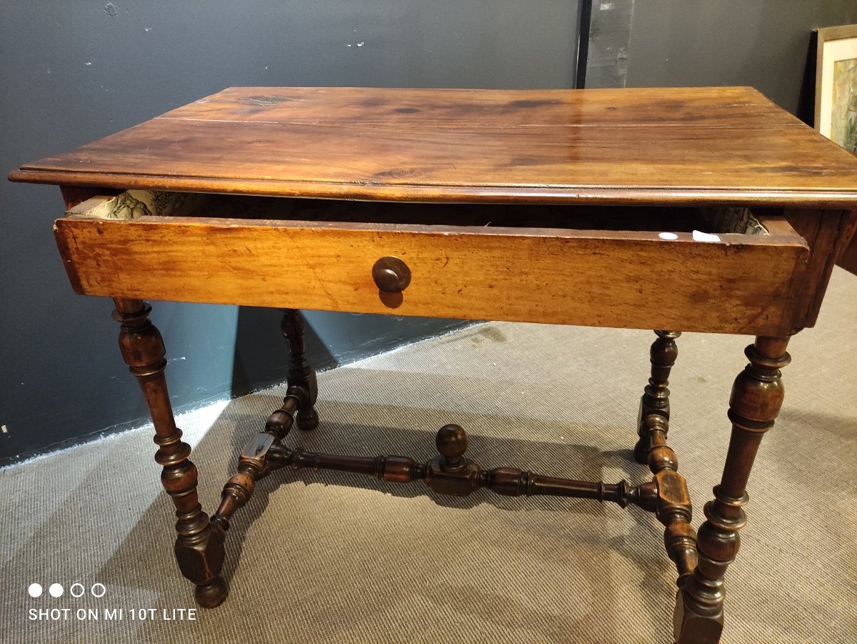
[[[788,337],[815,322],[857,215],[857,159],[746,87],[233,87],[10,178],[62,186],[69,212],[55,230],[72,286],[116,302],[177,508],[177,560],[201,605],[226,597],[225,533],[257,479],[313,466],[420,479],[438,493],[488,487],[649,510],[678,569],[682,643],[720,637],[723,577],[782,403]],[[142,298],[285,310],[288,393],[210,521]],[[425,464],[288,448],[293,423],[318,424],[297,309],[672,329],[656,331],[637,424],[634,455],[653,478],[482,470],[456,425]],[[679,330],[756,336],[698,533],[666,442]]]

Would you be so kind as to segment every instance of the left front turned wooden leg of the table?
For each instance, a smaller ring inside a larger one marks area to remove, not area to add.
[[[164,469],[161,484],[176,506],[176,559],[182,574],[196,584],[197,603],[213,608],[226,599],[228,589],[220,569],[223,566],[223,535],[208,521],[196,495],[196,466],[189,460],[190,446],[182,441],[176,427],[167,392],[164,341],[148,319],[152,307],[139,299],[115,298],[113,318],[122,323],[119,348],[134,374],[155,428],[159,446],[155,460]]]

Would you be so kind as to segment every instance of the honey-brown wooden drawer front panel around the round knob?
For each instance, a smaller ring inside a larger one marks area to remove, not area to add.
[[[153,216],[72,215],[55,231],[75,291],[88,295],[774,335],[791,328],[809,256],[780,224],[768,236],[708,242],[690,233]],[[382,257],[406,265],[403,291],[379,289],[373,267]]]

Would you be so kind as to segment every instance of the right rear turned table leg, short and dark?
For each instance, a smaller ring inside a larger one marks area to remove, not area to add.
[[[662,432],[666,439],[669,421],[669,371],[678,358],[679,347],[675,339],[680,331],[656,331],[657,340],[652,344],[649,355],[651,360],[651,377],[646,385],[643,398],[640,399],[637,417],[637,433],[639,440],[634,445],[634,460],[645,465],[649,462],[650,451],[653,447],[652,432]]]

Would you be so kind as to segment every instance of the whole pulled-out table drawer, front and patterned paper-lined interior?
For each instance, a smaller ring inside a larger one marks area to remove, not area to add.
[[[129,191],[55,231],[89,295],[759,335],[788,333],[809,257],[778,212],[740,208]]]

